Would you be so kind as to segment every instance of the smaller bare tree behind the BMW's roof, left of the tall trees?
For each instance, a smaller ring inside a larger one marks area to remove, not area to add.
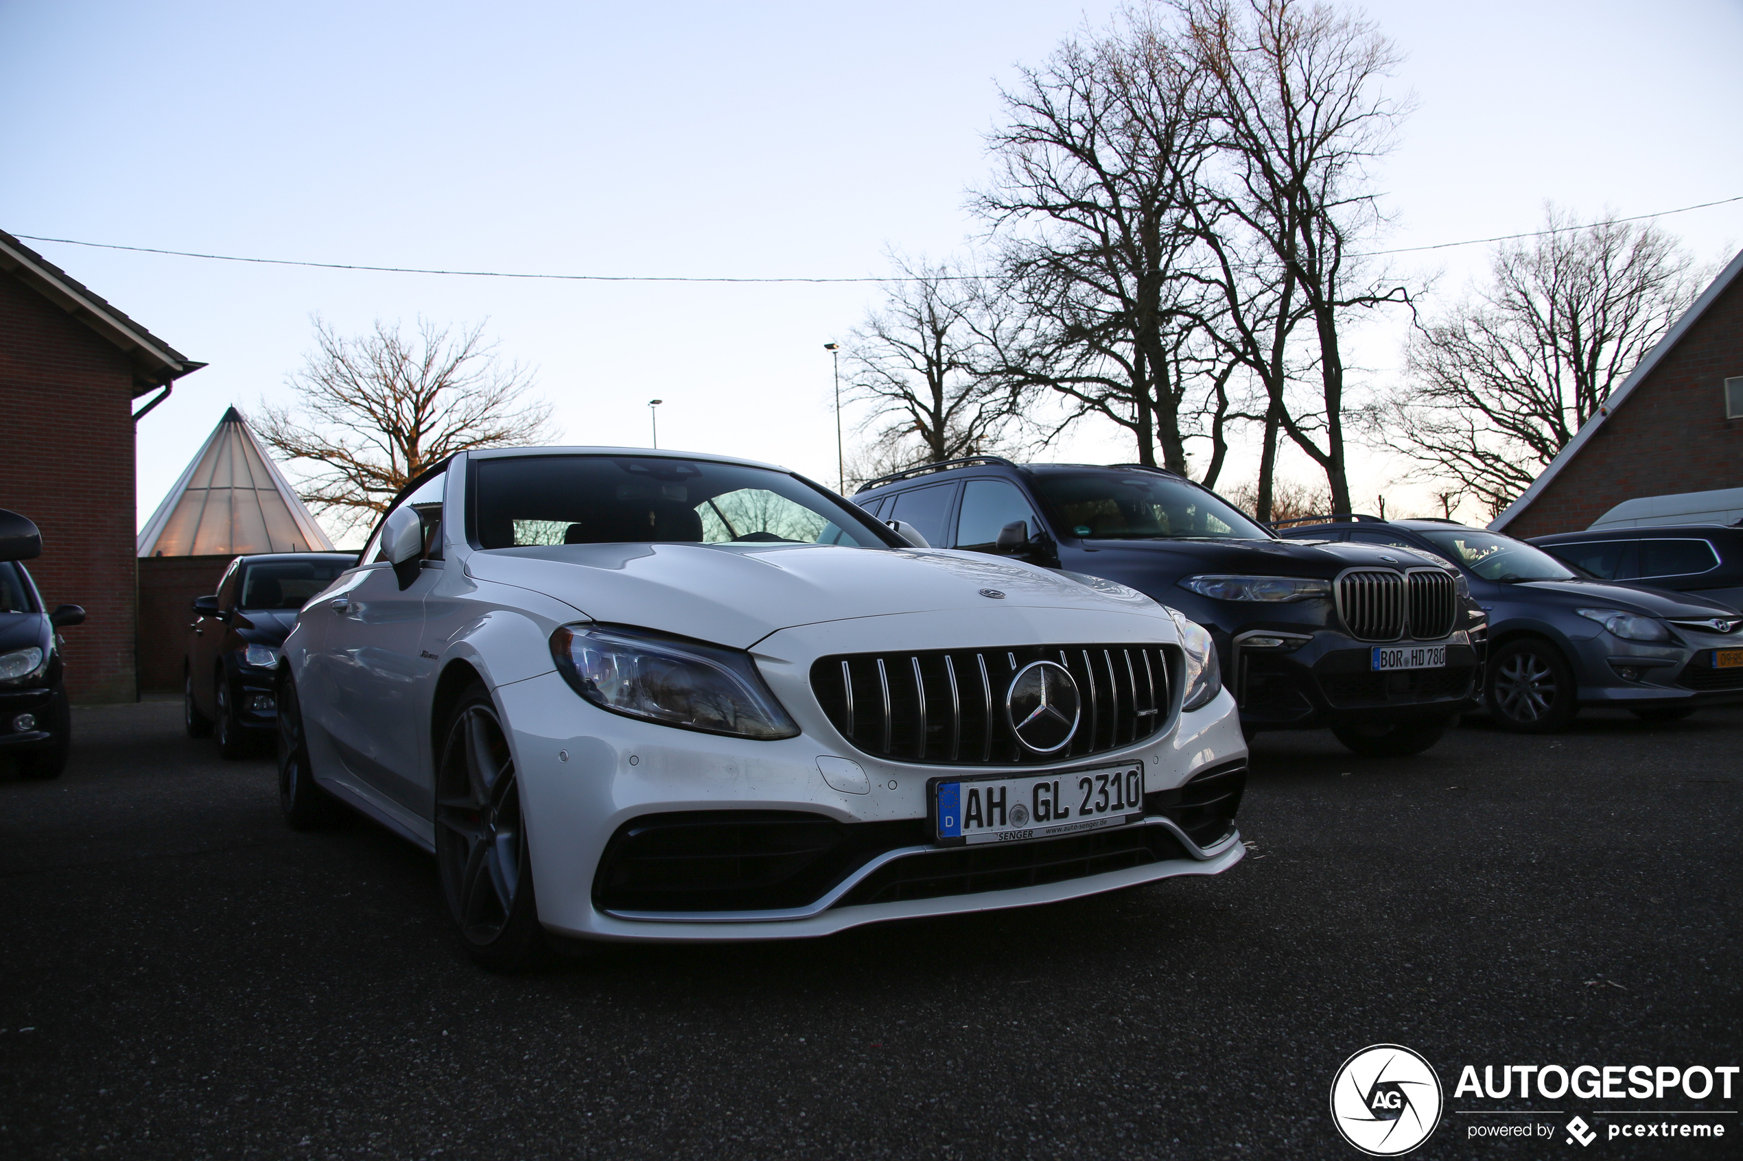
[[[1020,409],[1020,390],[981,371],[999,303],[952,263],[898,258],[896,272],[847,345],[849,399],[872,406],[872,460],[896,472],[994,451]]]

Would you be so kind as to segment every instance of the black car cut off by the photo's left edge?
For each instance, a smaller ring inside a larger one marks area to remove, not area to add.
[[[58,778],[73,742],[58,630],[84,623],[85,611],[42,607],[21,564],[40,555],[37,526],[0,508],[0,755],[26,778]]]

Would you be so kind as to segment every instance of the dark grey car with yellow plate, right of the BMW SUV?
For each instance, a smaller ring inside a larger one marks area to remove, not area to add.
[[[1663,721],[1743,700],[1736,609],[1609,583],[1522,540],[1452,520],[1311,519],[1319,522],[1290,522],[1283,534],[1429,552],[1464,573],[1489,613],[1487,703],[1502,729],[1560,729],[1581,707]]]

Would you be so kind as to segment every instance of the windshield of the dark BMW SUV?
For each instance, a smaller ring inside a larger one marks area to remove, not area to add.
[[[1154,472],[1037,472],[1063,531],[1086,540],[1272,540],[1218,496]]]

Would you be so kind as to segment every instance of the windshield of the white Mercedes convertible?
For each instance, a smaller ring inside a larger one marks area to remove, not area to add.
[[[786,543],[887,548],[870,517],[769,468],[654,456],[478,460],[481,548]]]

